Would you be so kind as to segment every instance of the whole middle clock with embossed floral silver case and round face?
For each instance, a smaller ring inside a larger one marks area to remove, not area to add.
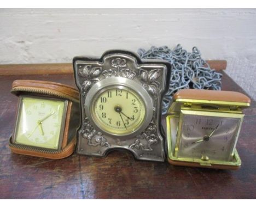
[[[112,50],[101,58],[74,57],[73,68],[81,107],[77,153],[125,149],[138,160],[164,161],[161,101],[171,65]]]

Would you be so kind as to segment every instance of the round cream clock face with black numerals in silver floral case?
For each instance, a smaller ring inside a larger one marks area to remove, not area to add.
[[[126,135],[136,131],[146,115],[144,101],[135,91],[112,86],[92,101],[92,118],[110,134]]]

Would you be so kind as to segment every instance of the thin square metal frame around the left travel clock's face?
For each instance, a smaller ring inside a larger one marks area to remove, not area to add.
[[[22,99],[24,97],[29,97],[29,98],[32,98],[32,99],[45,99],[45,100],[62,101],[64,103],[62,119],[61,119],[61,127],[60,127],[59,144],[58,144],[58,148],[57,149],[54,149],[54,148],[44,148],[42,146],[33,146],[33,145],[16,143],[16,136],[17,136],[16,134],[17,134],[17,131],[18,131],[18,125],[19,125],[19,121],[20,121]],[[13,144],[30,146],[31,148],[36,148],[38,150],[60,151],[62,149],[63,137],[64,137],[64,133],[66,131],[66,129],[65,129],[66,117],[67,117],[67,114],[70,113],[70,112],[68,112],[69,111],[69,109],[68,109],[68,102],[69,102],[68,100],[59,99],[59,98],[55,98],[55,97],[49,97],[49,96],[19,95],[18,106],[17,106],[18,109],[16,111],[16,120],[15,120],[14,133],[13,133],[13,137],[11,138],[11,142]]]

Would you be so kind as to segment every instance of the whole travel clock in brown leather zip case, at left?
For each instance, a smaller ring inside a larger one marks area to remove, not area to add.
[[[79,93],[65,84],[16,80],[11,93],[19,96],[11,151],[59,159],[71,155],[79,125]]]

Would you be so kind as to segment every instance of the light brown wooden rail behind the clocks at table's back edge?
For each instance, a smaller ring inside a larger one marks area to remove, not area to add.
[[[226,60],[207,60],[212,69],[226,69]],[[0,75],[53,75],[73,74],[71,63],[61,64],[5,64],[0,65]]]

